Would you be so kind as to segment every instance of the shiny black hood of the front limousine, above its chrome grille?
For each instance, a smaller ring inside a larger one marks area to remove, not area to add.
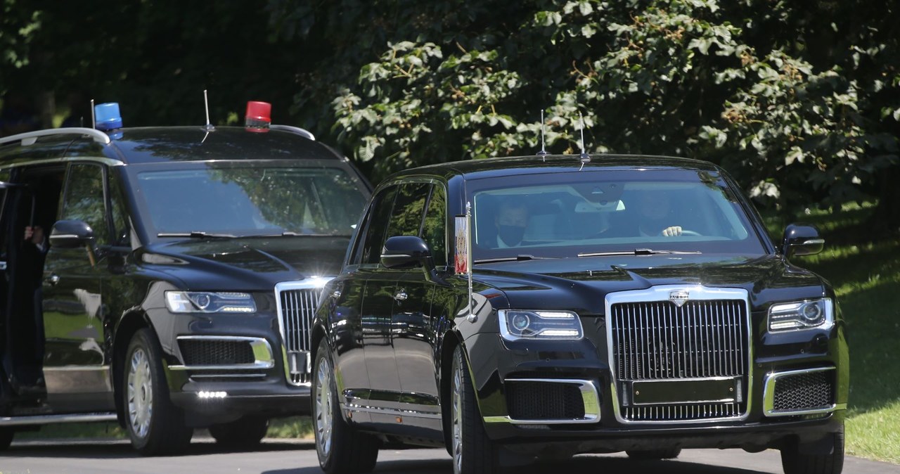
[[[497,308],[570,309],[581,315],[605,312],[604,299],[615,291],[657,285],[741,288],[752,310],[772,301],[821,298],[827,282],[779,255],[616,255],[476,265],[473,278],[501,291]],[[489,295],[490,296],[490,295]]]

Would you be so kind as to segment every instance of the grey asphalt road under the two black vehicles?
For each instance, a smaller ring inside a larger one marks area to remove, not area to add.
[[[624,454],[581,455],[514,470],[516,474],[559,472],[604,474],[761,474],[781,473],[779,452],[688,450],[673,461],[630,461]],[[253,451],[229,452],[211,438],[194,439],[183,456],[142,458],[124,441],[16,441],[0,452],[0,474],[91,473],[199,473],[312,474],[321,472],[315,447],[308,441],[266,439]],[[374,472],[448,474],[453,472],[444,450],[383,450]],[[900,474],[900,465],[849,457],[847,474]]]

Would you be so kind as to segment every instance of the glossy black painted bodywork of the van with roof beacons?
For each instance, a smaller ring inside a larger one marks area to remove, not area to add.
[[[28,147],[0,148],[0,172],[13,182],[35,181],[34,175],[50,171],[61,178],[68,163],[90,163],[103,169],[103,192],[92,197],[108,219],[104,227],[119,219],[127,222],[130,231],[122,236],[103,235],[103,229],[94,228],[95,242],[79,237],[50,239],[41,275],[46,350],[36,365],[36,371],[44,371],[47,385],[39,387],[43,391],[33,399],[23,398],[22,407],[8,404],[4,398],[0,415],[40,409],[50,414],[115,410],[124,416],[122,357],[139,327],[153,329],[164,362],[175,368],[184,365],[177,343],[181,335],[258,337],[270,345],[275,366],[259,370],[262,375],[258,378],[201,379],[192,378],[191,371],[166,370],[171,398],[186,410],[190,425],[224,423],[249,414],[308,412],[308,386],[293,386],[285,380],[275,284],[339,273],[349,236],[157,237],[150,232],[136,174],[139,170],[191,166],[327,166],[343,170],[367,198],[371,186],[347,158],[291,132],[252,133],[235,127],[214,131],[201,127],[124,129],[120,139],[106,146],[68,135],[64,139],[40,138]],[[121,202],[121,208],[113,201]],[[190,202],[183,205],[190,206]],[[28,203],[23,200],[20,207],[28,209]],[[111,214],[113,208],[124,216]],[[28,221],[26,215],[10,217],[10,209],[4,210],[4,252],[8,246],[21,245],[11,242],[21,240],[21,227]],[[46,227],[49,234],[50,226]],[[56,231],[82,235],[86,228],[85,222],[59,221]],[[13,264],[17,268],[23,265]],[[7,299],[16,299],[14,286],[4,286],[3,291],[9,291],[9,295],[4,293]],[[257,311],[173,314],[166,308],[166,291],[247,292]],[[18,300],[14,306],[4,305],[4,321],[22,318],[17,311],[34,304],[30,295]],[[387,313],[386,320],[390,316]],[[35,330],[31,328],[29,336]],[[356,332],[360,333],[358,327]],[[11,336],[3,333],[4,339]],[[196,393],[201,390],[226,391],[229,398],[200,400]],[[3,393],[6,397],[5,389]]]

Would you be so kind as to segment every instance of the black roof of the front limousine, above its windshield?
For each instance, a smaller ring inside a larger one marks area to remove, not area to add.
[[[466,180],[520,174],[548,174],[599,169],[682,169],[719,172],[718,166],[691,158],[651,155],[546,155],[529,157],[486,158],[419,166],[392,174],[388,180],[420,174],[449,179],[462,175]]]

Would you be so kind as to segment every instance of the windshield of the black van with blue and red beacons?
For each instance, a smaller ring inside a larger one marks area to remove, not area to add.
[[[138,174],[157,237],[349,236],[366,196],[338,167],[225,167]]]

